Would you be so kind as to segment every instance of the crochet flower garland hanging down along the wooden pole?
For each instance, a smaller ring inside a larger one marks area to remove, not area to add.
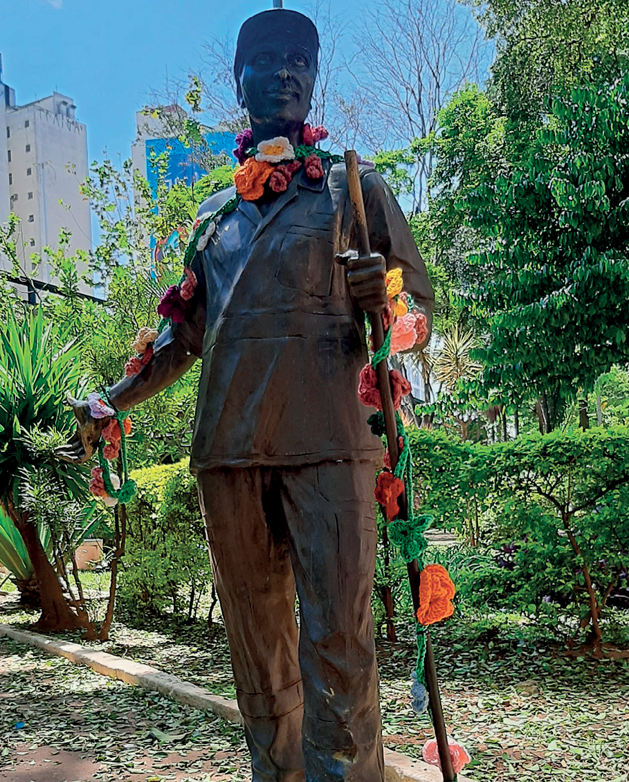
[[[379,411],[368,418],[372,432],[379,437],[385,434],[382,400],[378,388],[376,367],[388,356],[393,356],[401,350],[410,350],[416,344],[422,343],[428,335],[426,315],[415,308],[415,302],[403,290],[401,269],[392,269],[386,274],[386,296],[388,304],[383,312],[383,326],[386,329],[383,346],[376,351],[372,361],[361,371],[358,385],[358,397],[368,407],[376,407]],[[379,473],[374,495],[383,508],[383,515],[388,520],[387,532],[389,540],[400,552],[406,562],[417,559],[420,570],[419,608],[416,619],[417,663],[412,673],[412,706],[415,712],[423,714],[429,706],[424,673],[426,657],[426,627],[434,622],[447,619],[454,612],[452,598],[455,597],[455,585],[452,583],[443,565],[425,565],[424,554],[428,543],[424,533],[433,522],[432,516],[415,516],[413,511],[413,481],[411,449],[408,435],[400,414],[402,396],[411,393],[411,384],[397,370],[389,371],[393,391],[394,409],[396,411],[397,436],[400,457],[392,470],[389,450],[383,457],[384,469]],[[399,518],[399,498],[406,490],[407,516]],[[455,773],[461,771],[469,762],[469,753],[456,741],[448,737],[452,767]],[[440,767],[437,741],[431,739],[422,750],[426,762]]]

